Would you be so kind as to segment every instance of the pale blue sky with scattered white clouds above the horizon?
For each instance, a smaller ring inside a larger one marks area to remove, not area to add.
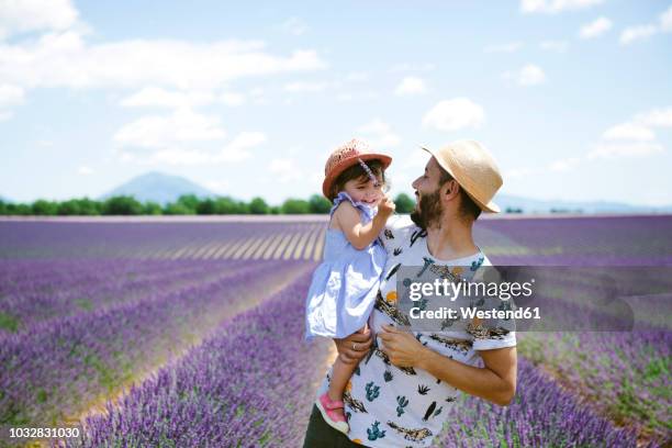
[[[277,204],[352,137],[393,195],[475,138],[502,193],[672,204],[672,2],[0,0],[0,197],[183,176]]]

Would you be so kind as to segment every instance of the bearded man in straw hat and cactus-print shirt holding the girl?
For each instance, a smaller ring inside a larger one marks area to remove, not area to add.
[[[381,233],[388,262],[369,326],[376,337],[335,339],[338,356],[359,362],[344,394],[350,432],[324,423],[314,406],[307,447],[425,447],[446,422],[458,390],[506,405],[516,388],[515,332],[407,332],[396,307],[396,272],[424,266],[469,281],[485,255],[472,227],[482,211],[496,213],[492,198],[502,177],[490,153],[475,141],[428,149],[433,157],[413,182],[417,204],[411,216],[391,219]],[[484,367],[475,367],[481,358]],[[328,388],[329,373],[318,393]]]

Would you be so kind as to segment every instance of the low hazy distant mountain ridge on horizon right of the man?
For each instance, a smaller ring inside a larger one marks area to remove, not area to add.
[[[523,213],[550,213],[551,211],[581,213],[670,213],[672,205],[647,206],[611,201],[561,201],[531,199],[525,197],[497,194],[494,201],[502,211],[522,209]]]

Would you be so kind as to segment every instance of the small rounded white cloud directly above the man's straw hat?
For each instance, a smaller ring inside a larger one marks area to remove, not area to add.
[[[444,100],[432,108],[423,117],[424,127],[438,131],[457,131],[479,127],[485,120],[483,108],[468,98]]]

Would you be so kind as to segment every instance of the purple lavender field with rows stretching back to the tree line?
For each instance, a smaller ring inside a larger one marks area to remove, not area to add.
[[[0,221],[0,426],[301,446],[334,356],[302,341],[325,220]],[[672,266],[667,215],[480,220],[475,239],[495,265]],[[461,399],[435,445],[669,446],[671,350],[665,329],[519,333],[513,403]]]

